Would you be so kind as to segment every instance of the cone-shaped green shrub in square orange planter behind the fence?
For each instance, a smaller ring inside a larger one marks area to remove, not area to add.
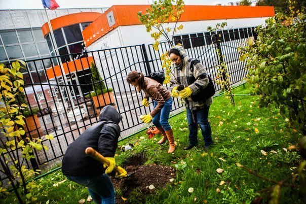
[[[106,88],[103,79],[101,78],[96,65],[91,62],[91,73],[92,73],[92,83],[93,83],[93,92],[90,93],[94,105],[96,108],[103,107],[109,104],[114,103],[114,98],[112,95],[112,88]],[[89,97],[87,95],[86,97]]]

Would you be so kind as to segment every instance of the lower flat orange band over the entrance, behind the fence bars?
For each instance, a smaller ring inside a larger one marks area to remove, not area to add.
[[[62,65],[63,65],[65,74],[69,74],[69,72],[72,73],[72,72],[82,71],[83,69],[89,68],[91,65],[91,62],[93,61],[94,61],[93,57],[91,56],[91,57],[84,57],[81,59],[77,59],[74,61],[69,61],[67,63],[63,63]],[[60,77],[60,76],[62,76],[60,65],[50,67],[50,69],[47,70],[48,79],[53,79],[55,77]]]

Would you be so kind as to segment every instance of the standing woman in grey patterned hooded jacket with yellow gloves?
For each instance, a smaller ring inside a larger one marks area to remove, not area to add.
[[[211,127],[208,121],[208,111],[212,104],[212,97],[203,101],[194,101],[193,94],[199,93],[208,85],[207,70],[198,60],[194,60],[193,67],[190,67],[191,60],[184,48],[180,45],[172,47],[168,51],[171,61],[174,63],[174,76],[171,77],[170,86],[172,88],[172,96],[180,96],[185,100],[187,112],[187,122],[189,127],[189,146],[184,150],[192,149],[198,145],[198,124],[202,131],[205,141],[205,148],[209,148],[212,144]],[[192,81],[195,78],[196,81]],[[178,85],[183,85],[183,90],[177,91]]]

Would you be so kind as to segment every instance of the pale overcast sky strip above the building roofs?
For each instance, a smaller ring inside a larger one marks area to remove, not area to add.
[[[151,4],[152,0],[56,0],[62,9],[66,8],[96,8],[112,5]],[[185,0],[185,5],[227,5],[228,2],[239,0]],[[43,9],[41,0],[0,0],[1,9]]]

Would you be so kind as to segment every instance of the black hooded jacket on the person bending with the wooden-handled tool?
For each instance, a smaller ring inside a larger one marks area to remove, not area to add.
[[[86,129],[68,146],[62,160],[62,173],[80,176],[104,173],[103,165],[86,155],[85,149],[92,147],[104,157],[114,157],[120,135],[121,119],[122,116],[116,109],[105,106],[100,112],[99,122]]]

